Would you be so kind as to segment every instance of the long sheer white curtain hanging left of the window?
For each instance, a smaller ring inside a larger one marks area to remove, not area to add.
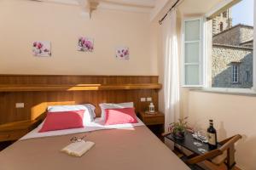
[[[177,47],[177,11],[173,9],[162,24],[164,54],[164,100],[166,130],[171,122],[179,118],[179,59]]]

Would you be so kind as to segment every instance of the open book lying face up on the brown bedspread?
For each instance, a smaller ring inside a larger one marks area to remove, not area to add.
[[[92,146],[94,146],[94,142],[90,142],[90,141],[84,141],[81,140],[79,142],[74,142],[72,144],[68,144],[65,148],[63,148],[61,151],[67,153],[70,156],[83,156],[84,153],[88,150],[90,150],[90,148]]]

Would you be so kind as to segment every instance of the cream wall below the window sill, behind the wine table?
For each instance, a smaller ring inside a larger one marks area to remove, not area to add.
[[[190,91],[186,99],[186,116],[191,125],[206,129],[209,119],[213,119],[219,141],[241,134],[236,144],[237,165],[245,170],[256,169],[256,96]]]

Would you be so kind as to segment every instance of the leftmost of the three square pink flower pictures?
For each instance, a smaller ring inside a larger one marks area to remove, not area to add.
[[[49,57],[51,55],[50,42],[37,41],[32,43],[32,53],[38,57]]]

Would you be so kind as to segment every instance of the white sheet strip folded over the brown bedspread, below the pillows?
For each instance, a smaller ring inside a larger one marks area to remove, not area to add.
[[[131,128],[137,126],[145,126],[144,123],[137,117],[137,123],[126,123],[126,124],[116,124],[116,125],[108,125],[105,126],[104,122],[101,118],[96,118],[94,122],[87,122],[85,127],[82,128],[70,128],[65,130],[56,130],[56,131],[49,131],[45,133],[38,133],[38,131],[42,128],[43,122],[33,129],[30,133],[27,133],[23,136],[20,140],[24,139],[35,139],[35,138],[43,138],[49,136],[60,136],[65,134],[72,134],[72,133],[86,133],[96,130],[104,130],[104,129],[119,129],[119,128]]]

